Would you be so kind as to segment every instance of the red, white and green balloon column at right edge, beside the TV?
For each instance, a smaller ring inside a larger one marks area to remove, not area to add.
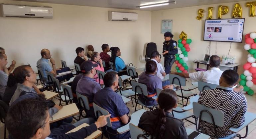
[[[248,95],[253,95],[254,91],[251,87],[256,84],[256,32],[252,32],[245,35],[244,49],[247,50],[248,54],[247,63],[243,65],[244,73],[240,75],[240,85],[244,87],[244,91]]]

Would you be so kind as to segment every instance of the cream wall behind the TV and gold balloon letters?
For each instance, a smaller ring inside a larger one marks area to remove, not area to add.
[[[239,3],[242,7],[242,18],[245,18],[244,24],[244,35],[253,31],[256,31],[256,17],[249,17],[250,9],[246,7],[246,2],[250,1],[240,1],[240,2],[231,2],[231,3],[221,3],[221,4],[211,4],[211,5],[203,5],[203,6],[194,6],[194,7],[185,7],[185,8],[177,8],[177,9],[169,9],[169,10],[161,10],[161,11],[153,11],[151,18],[151,42],[155,42],[157,44],[157,48],[159,51],[162,51],[164,35],[161,33],[161,20],[172,19],[173,27],[172,33],[174,34],[174,40],[178,41],[179,34],[184,31],[187,33],[188,38],[192,39],[192,43],[190,44],[191,51],[188,54],[189,57],[189,70],[190,72],[194,72],[196,68],[196,64],[192,63],[195,59],[202,60],[204,55],[207,53],[206,49],[209,45],[209,41],[203,41],[203,30],[204,30],[204,20],[208,16],[208,7],[213,7],[212,16],[213,19],[217,19],[218,14],[218,6],[225,5],[228,6],[229,11],[226,15],[222,15],[222,19],[230,19],[232,18],[232,11],[234,9],[235,3]],[[201,21],[196,20],[197,10],[204,9],[203,19]],[[223,56],[227,55],[229,51],[230,42],[217,42],[217,55]],[[242,43],[232,43],[230,54],[231,56],[236,56],[236,63],[243,65],[247,62],[248,52],[244,50],[244,40]],[[211,50],[210,55],[215,55],[215,42],[211,42]],[[163,61],[162,61],[163,63]],[[206,66],[202,66],[201,68],[206,69]],[[175,66],[172,67],[172,70],[175,70]],[[242,66],[238,67],[238,73],[241,74],[243,72]]]

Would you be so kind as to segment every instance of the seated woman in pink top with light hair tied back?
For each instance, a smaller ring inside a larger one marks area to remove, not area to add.
[[[92,51],[88,51],[88,55],[91,58],[91,61],[93,64],[98,64],[98,67],[95,67],[95,70],[100,70],[100,71],[104,71],[103,65],[102,65],[102,60],[100,59],[99,53],[98,52],[92,52]],[[98,74],[95,74],[93,76],[93,79],[96,80],[96,82],[98,82],[99,84],[104,84],[103,80],[100,79],[98,77]]]

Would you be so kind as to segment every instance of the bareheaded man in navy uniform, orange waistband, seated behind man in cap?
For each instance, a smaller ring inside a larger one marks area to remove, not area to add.
[[[116,129],[124,126],[129,122],[129,109],[124,104],[124,101],[120,95],[115,91],[118,88],[118,75],[115,71],[107,72],[103,78],[105,87],[99,90],[95,95],[93,102],[103,109],[107,110],[110,116],[112,127],[108,128],[110,133],[116,134]],[[106,136],[105,128],[102,129]],[[128,139],[130,138],[130,132],[123,134],[112,135],[109,134],[111,139]]]

